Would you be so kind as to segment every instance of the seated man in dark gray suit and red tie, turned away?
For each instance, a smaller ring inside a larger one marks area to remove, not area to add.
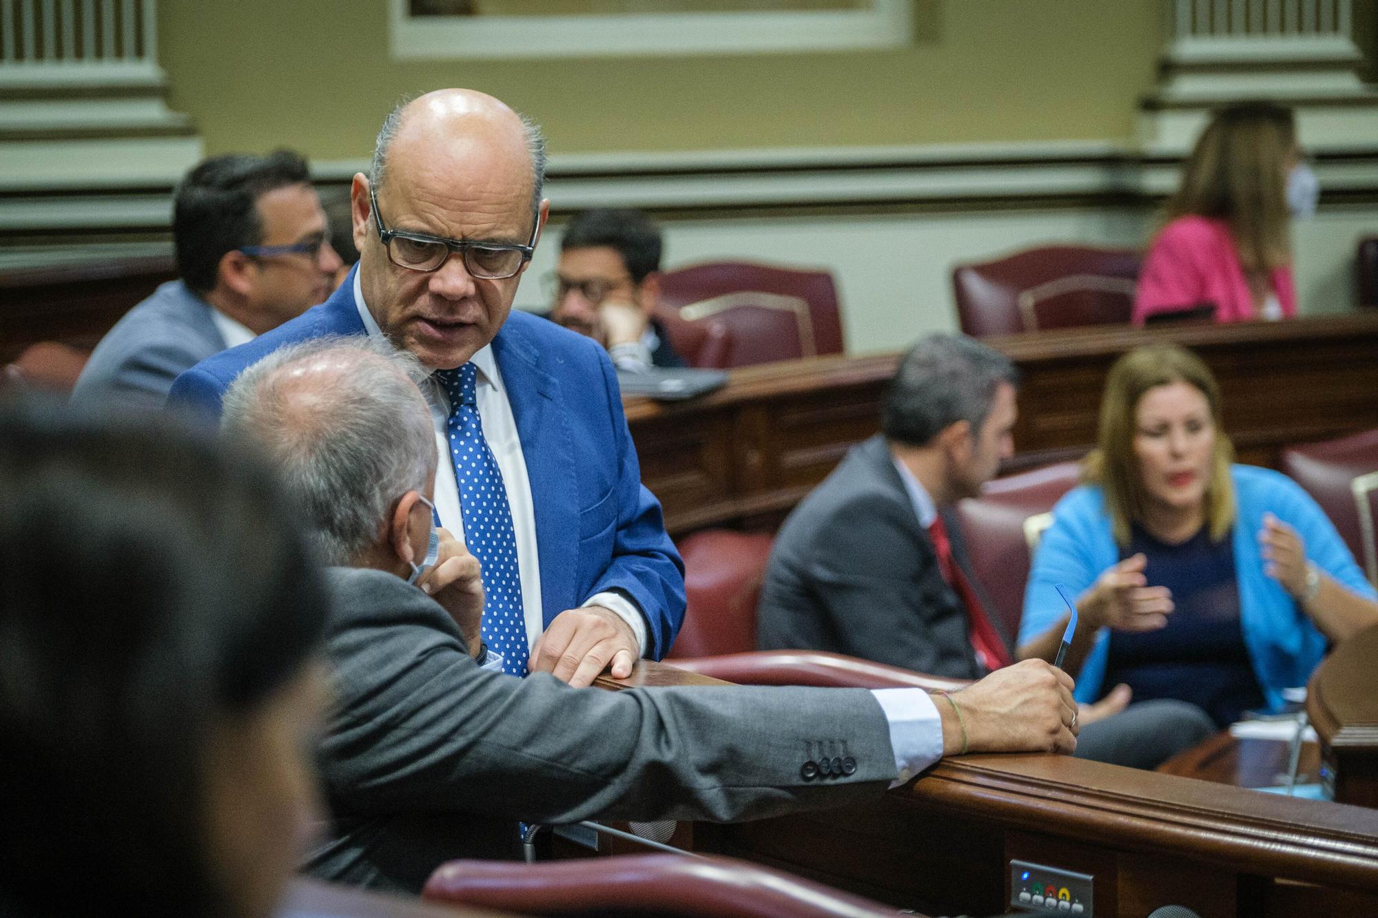
[[[1018,659],[988,613],[954,507],[1014,453],[1018,375],[966,335],[932,335],[900,363],[882,433],[853,447],[776,538],[757,605],[757,645],[860,656],[978,680]],[[1127,686],[1083,706],[1083,758],[1155,768],[1214,733],[1180,702],[1126,708]]]

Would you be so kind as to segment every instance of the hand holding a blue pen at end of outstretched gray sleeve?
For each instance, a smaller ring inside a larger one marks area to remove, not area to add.
[[[1024,660],[991,673],[951,700],[934,697],[943,717],[943,754],[962,751],[966,726],[969,753],[1072,753],[1079,715],[1072,677],[1043,660]]]

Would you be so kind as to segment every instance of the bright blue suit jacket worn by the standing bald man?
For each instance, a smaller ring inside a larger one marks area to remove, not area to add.
[[[168,404],[219,416],[234,378],[273,350],[362,334],[351,273],[320,306],[183,372]],[[624,590],[645,613],[650,656],[663,657],[683,622],[683,562],[666,535],[660,503],[641,484],[606,353],[588,338],[514,310],[493,338],[493,357],[531,478],[546,626],[595,593]]]

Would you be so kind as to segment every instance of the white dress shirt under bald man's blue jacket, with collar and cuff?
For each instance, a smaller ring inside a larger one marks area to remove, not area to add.
[[[369,338],[382,338],[383,332],[378,321],[364,303],[364,288],[354,272],[354,306],[358,317],[364,323],[364,329]],[[521,576],[522,618],[526,622],[526,645],[531,646],[546,630],[544,609],[540,601],[540,555],[536,546],[536,510],[531,496],[531,478],[526,476],[526,458],[522,455],[521,437],[517,433],[517,419],[513,416],[511,402],[503,387],[502,374],[497,371],[497,360],[493,357],[492,345],[485,345],[470,358],[477,368],[477,385],[474,401],[478,407],[478,419],[484,425],[484,440],[497,460],[497,470],[503,476],[503,489],[507,491],[507,504],[513,516],[513,535],[517,539],[517,568]],[[430,376],[422,386],[422,394],[431,409],[431,426],[435,429],[435,449],[442,459],[435,466],[435,513],[440,516],[442,527],[449,529],[456,539],[464,539],[464,514],[459,506],[459,485],[455,482],[455,466],[448,462],[449,456],[449,396],[445,387]],[[633,634],[641,653],[648,649],[646,620],[641,609],[627,595],[621,593],[597,593],[583,605],[601,605],[610,609],[624,620]]]

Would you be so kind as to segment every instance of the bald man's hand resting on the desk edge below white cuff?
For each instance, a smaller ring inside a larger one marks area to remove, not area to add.
[[[555,616],[531,649],[531,671],[582,688],[609,669],[613,678],[627,678],[639,656],[630,624],[610,609],[586,605]]]

